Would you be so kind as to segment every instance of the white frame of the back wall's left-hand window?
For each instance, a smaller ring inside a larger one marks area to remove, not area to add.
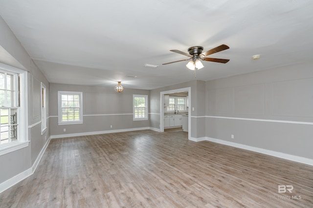
[[[61,95],[79,95],[79,120],[62,121],[62,99]],[[58,91],[58,125],[83,124],[83,92]]]

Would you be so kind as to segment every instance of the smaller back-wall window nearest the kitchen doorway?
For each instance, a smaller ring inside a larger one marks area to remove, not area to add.
[[[148,95],[133,95],[133,98],[134,98],[134,109],[133,109],[134,120],[148,120]]]

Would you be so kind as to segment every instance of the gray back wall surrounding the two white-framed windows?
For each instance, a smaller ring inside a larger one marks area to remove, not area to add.
[[[148,95],[149,100],[149,90],[124,89],[123,93],[116,93],[113,87],[50,83],[51,136],[149,128],[149,120],[133,121],[133,95]],[[83,92],[83,124],[58,125],[58,91]]]

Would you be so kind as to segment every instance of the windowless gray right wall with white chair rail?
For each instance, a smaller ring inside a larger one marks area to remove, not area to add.
[[[207,137],[313,158],[312,65],[299,64],[205,84]]]

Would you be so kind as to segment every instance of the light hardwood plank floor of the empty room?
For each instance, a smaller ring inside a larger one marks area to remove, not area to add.
[[[52,139],[35,173],[0,194],[0,207],[313,207],[312,166],[187,135]]]

